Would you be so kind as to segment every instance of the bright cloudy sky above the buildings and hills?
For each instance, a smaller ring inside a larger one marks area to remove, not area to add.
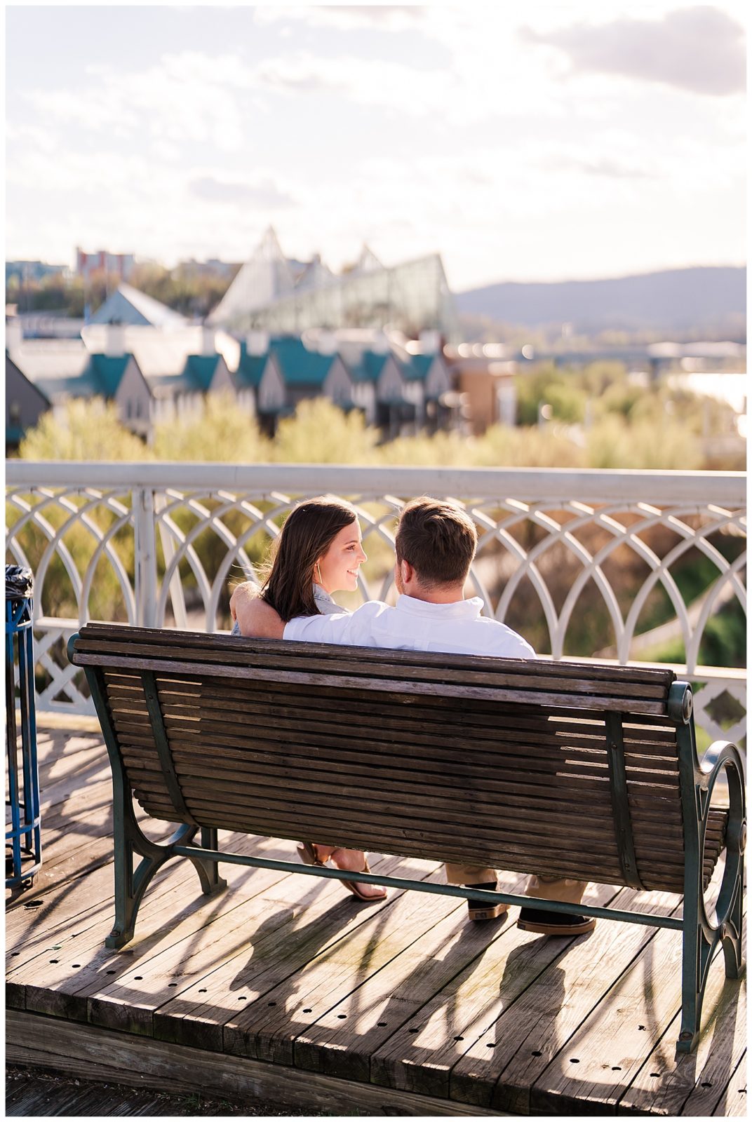
[[[9,259],[744,264],[736,0],[6,11]]]

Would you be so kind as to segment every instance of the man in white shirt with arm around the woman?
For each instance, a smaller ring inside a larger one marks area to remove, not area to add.
[[[480,615],[483,600],[464,598],[477,542],[475,524],[459,506],[416,498],[403,508],[394,543],[396,607],[369,600],[352,614],[297,616],[285,624],[246,583],[232,594],[230,610],[241,633],[258,638],[534,659],[535,652],[521,635]],[[496,890],[493,868],[452,864],[446,868],[449,884]],[[579,903],[585,888],[580,881],[531,876],[525,893]],[[468,901],[470,919],[494,919],[506,910],[506,904],[489,908]],[[541,935],[581,935],[593,930],[595,920],[523,908],[517,926]]]

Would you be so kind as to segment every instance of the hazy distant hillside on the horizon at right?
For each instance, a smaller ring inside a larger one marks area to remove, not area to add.
[[[584,333],[723,327],[739,331],[746,311],[746,270],[718,266],[607,280],[510,282],[460,293],[457,307],[460,314],[531,328],[571,323]]]

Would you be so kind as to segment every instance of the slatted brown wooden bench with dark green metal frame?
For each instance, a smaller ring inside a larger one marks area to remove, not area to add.
[[[84,626],[68,653],[85,669],[112,765],[108,947],[132,938],[144,892],[173,856],[194,863],[205,893],[224,886],[218,863],[232,862],[482,895],[220,853],[224,829],[684,893],[682,919],[483,894],[681,930],[680,1051],[696,1042],[719,941],[726,975],[740,974],[742,763],[721,742],[698,763],[691,690],[669,670],[103,624]],[[710,807],[722,772],[727,810]],[[152,817],[178,824],[166,844],[139,829],[131,792]],[[724,847],[710,918],[703,892]]]

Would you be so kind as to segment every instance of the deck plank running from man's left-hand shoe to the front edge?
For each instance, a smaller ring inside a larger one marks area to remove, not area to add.
[[[499,877],[499,883],[505,891],[521,892],[526,880],[526,876],[506,874]],[[295,1065],[368,1082],[374,1052],[400,1029],[409,1039],[414,1039],[418,1021],[415,1024],[409,1022],[415,1018],[422,1021],[423,1009],[437,991],[470,964],[485,958],[495,940],[506,934],[504,925],[510,922],[508,916],[496,921],[470,922],[462,901],[391,963],[299,1032],[294,1040]]]

